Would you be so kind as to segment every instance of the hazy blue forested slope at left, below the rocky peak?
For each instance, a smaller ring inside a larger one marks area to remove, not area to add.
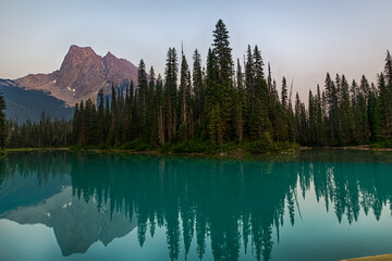
[[[17,119],[19,123],[27,119],[38,122],[42,112],[49,114],[52,120],[70,120],[73,115],[73,108],[42,90],[27,90],[10,79],[0,79],[0,90],[5,98],[7,119]]]

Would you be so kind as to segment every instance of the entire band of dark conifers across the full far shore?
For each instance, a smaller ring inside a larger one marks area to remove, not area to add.
[[[219,20],[206,65],[193,53],[191,72],[183,51],[169,48],[164,75],[140,60],[137,83],[111,95],[76,103],[73,120],[7,121],[0,95],[1,148],[160,150],[181,153],[249,153],[299,146],[392,147],[392,58],[377,83],[365,75],[348,82],[327,73],[324,86],[309,90],[307,104],[292,97],[286,78],[272,78],[258,46],[234,63],[229,32]],[[293,99],[292,99],[293,98]],[[292,101],[293,100],[293,101]]]

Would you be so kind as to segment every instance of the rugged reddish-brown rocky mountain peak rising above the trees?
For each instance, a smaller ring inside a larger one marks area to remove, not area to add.
[[[27,89],[48,91],[68,105],[74,105],[82,99],[95,101],[101,88],[110,94],[112,83],[124,86],[131,80],[137,82],[137,67],[131,62],[110,52],[100,57],[90,47],[71,46],[60,70],[29,74],[15,83]]]

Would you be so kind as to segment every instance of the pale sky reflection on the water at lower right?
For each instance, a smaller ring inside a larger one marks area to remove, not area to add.
[[[333,207],[327,212],[323,201],[317,202],[314,188],[306,192],[305,200],[298,197],[298,201],[303,222],[297,211],[294,226],[285,216],[272,260],[341,260],[392,252],[388,208],[383,208],[379,222],[372,212],[366,215],[360,210],[358,221],[348,225],[347,219],[339,224]]]

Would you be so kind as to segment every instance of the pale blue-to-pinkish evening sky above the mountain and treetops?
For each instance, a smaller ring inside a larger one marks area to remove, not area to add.
[[[169,47],[183,42],[189,65],[196,48],[205,64],[222,18],[234,61],[257,45],[278,86],[285,76],[306,98],[327,72],[377,80],[391,10],[391,0],[0,0],[0,78],[58,70],[71,45],[163,74]]]

